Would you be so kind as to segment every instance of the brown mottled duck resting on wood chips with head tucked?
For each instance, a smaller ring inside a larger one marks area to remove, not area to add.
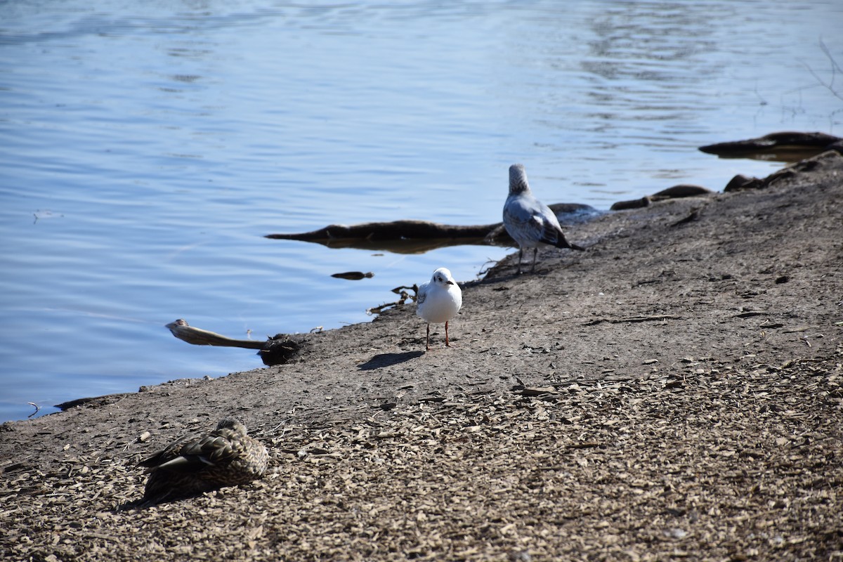
[[[245,484],[266,471],[269,452],[246,435],[246,427],[225,418],[217,429],[185,436],[141,461],[149,473],[144,505]]]

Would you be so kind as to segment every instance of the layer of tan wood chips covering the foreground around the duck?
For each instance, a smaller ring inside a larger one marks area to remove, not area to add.
[[[679,386],[653,375],[458,393],[344,423],[267,418],[265,479],[142,511],[122,508],[142,494],[132,455],[154,437],[115,431],[107,447],[67,447],[62,468],[4,468],[0,554],[840,559],[843,351],[747,369],[706,359],[716,368]]]

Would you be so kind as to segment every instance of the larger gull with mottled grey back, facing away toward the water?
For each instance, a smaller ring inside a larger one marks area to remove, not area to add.
[[[503,226],[518,243],[518,273],[524,248],[533,249],[533,269],[540,246],[583,250],[569,243],[562,232],[556,213],[533,196],[522,164],[509,167],[509,196],[503,204]]]

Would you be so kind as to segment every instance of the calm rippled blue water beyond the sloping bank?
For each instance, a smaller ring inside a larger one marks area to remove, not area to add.
[[[843,133],[819,83],[841,28],[832,0],[2,2],[0,421],[260,367],[176,340],[175,318],[261,340],[334,328],[507,253],[266,233],[496,222],[513,162],[546,202],[602,209],[769,174],[696,147]],[[346,270],[375,276],[330,277]]]

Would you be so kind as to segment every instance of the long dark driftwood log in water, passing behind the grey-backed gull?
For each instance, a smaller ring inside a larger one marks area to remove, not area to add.
[[[562,223],[583,222],[599,215],[588,205],[550,205]],[[266,238],[315,242],[329,248],[388,250],[396,254],[421,254],[432,249],[460,244],[514,246],[502,222],[475,226],[439,224],[427,221],[365,222],[346,226],[332,224],[308,233],[266,234]]]

